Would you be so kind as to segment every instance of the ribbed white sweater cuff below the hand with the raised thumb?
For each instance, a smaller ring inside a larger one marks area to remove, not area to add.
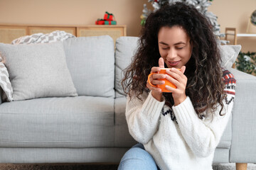
[[[164,103],[164,99],[163,101],[156,100],[156,98],[152,96],[150,91],[149,96],[146,98],[146,101],[144,102],[142,109],[146,111],[146,113],[148,113],[151,118],[157,118],[159,117],[161,110],[164,107]]]

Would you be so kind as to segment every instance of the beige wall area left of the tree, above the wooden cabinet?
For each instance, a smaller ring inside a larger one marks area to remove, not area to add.
[[[137,36],[147,0],[0,0],[0,23],[94,25],[105,11]]]

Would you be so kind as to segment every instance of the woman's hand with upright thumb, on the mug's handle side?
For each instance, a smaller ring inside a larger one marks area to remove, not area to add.
[[[159,67],[152,67],[151,68],[151,73],[156,72],[157,74],[153,74],[149,81],[151,84],[158,85],[158,84],[164,84],[164,81],[159,81],[159,79],[165,79],[166,74],[158,74],[160,72],[161,68],[164,68],[164,59],[161,57],[159,58]],[[146,87],[151,90],[151,94],[156,100],[162,101],[162,94],[161,89],[158,87],[151,86],[148,81],[146,81]]]

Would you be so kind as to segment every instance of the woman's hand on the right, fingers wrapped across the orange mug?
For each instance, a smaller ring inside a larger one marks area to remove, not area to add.
[[[174,98],[174,106],[179,105],[186,99],[186,84],[187,77],[184,75],[186,67],[181,67],[181,71],[175,68],[171,68],[171,70],[166,70],[166,79],[171,81],[177,88],[174,89],[170,86],[166,86],[166,89],[172,92],[172,96]]]

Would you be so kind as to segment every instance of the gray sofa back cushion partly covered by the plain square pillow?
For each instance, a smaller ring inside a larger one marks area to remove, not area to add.
[[[114,98],[114,42],[109,35],[64,40],[78,95]]]

